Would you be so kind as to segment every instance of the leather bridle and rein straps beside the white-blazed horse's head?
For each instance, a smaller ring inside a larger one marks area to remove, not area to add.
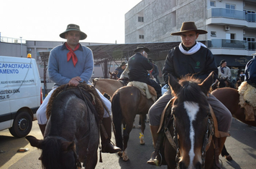
[[[206,151],[209,149],[210,145],[211,145],[211,139],[212,136],[214,135],[214,120],[212,119],[211,115],[208,115],[208,122],[207,122],[207,130],[206,130],[206,134],[204,136],[204,144],[202,147],[202,155],[201,155],[201,159],[202,159],[202,169],[205,168],[205,158],[206,158]],[[168,141],[170,143],[170,145],[172,145],[173,149],[176,150],[176,157],[175,157],[175,161],[176,161],[176,168],[179,168],[178,163],[180,161],[180,145],[178,143],[178,136],[177,136],[177,132],[175,130],[175,122],[174,122],[174,118],[173,118],[173,137],[170,135],[170,130],[168,129],[168,127],[165,127],[165,135],[168,138]]]

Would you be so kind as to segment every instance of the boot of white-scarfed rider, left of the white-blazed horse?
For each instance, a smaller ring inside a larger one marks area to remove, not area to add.
[[[150,165],[161,165],[160,164],[160,148],[163,144],[163,136],[162,133],[157,134],[159,126],[152,126],[150,125],[150,130],[153,138],[154,148],[155,151],[152,153],[150,160],[147,161],[147,164]]]

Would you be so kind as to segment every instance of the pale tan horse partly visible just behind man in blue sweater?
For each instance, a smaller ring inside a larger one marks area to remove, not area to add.
[[[102,95],[104,93],[108,94],[110,97],[118,90],[120,87],[127,85],[122,80],[116,79],[93,79],[93,86],[101,92]]]

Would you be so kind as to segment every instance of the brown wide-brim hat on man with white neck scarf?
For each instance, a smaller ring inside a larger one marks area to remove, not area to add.
[[[195,31],[198,34],[207,34],[205,30],[197,29],[195,22],[187,21],[183,22],[180,32],[171,33],[171,35],[181,35],[183,32]]]

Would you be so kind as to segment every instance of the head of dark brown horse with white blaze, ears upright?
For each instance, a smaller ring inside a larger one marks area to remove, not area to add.
[[[214,72],[201,83],[193,77],[185,77],[177,82],[169,75],[169,85],[174,96],[171,113],[174,117],[177,167],[201,168],[204,165],[204,145],[210,114],[206,96],[213,79]]]

